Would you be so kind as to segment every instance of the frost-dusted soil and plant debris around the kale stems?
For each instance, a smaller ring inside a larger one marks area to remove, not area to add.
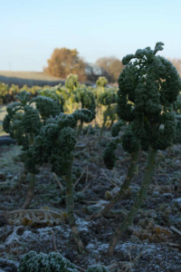
[[[110,137],[109,131],[106,136]],[[108,139],[103,138],[100,144],[97,135],[82,135],[75,151],[74,209],[86,248],[83,255],[79,255],[75,247],[67,222],[65,190],[61,189],[65,187],[64,180],[54,176],[47,165],[41,167],[37,176],[29,208],[33,210],[33,219],[29,219],[28,213],[20,212],[12,218],[9,212],[21,209],[24,204],[28,175],[24,173],[19,147],[0,148],[0,272],[17,271],[20,258],[30,250],[54,251],[53,236],[58,252],[83,269],[102,264],[110,271],[181,271],[181,146],[158,152],[148,198],[110,257],[107,254],[110,238],[133,204],[144,174],[147,153],[140,153],[138,174],[124,198],[105,217],[86,221],[89,214],[109,201],[129,167],[129,154],[119,147],[116,167],[114,170],[105,168],[102,154]],[[40,210],[45,210],[48,217]],[[51,212],[59,213],[61,217],[50,218]]]

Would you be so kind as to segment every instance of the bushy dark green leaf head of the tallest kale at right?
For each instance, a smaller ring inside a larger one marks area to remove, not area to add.
[[[127,55],[122,61],[126,67],[119,75],[117,112],[120,119],[132,122],[131,133],[144,150],[148,144],[165,150],[175,139],[172,103],[181,90],[181,81],[172,63],[156,56],[163,45],[157,43],[154,50],[147,47]],[[126,139],[125,135],[123,148],[128,151]]]

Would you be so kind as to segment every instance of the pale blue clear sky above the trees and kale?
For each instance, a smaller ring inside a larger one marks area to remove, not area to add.
[[[0,0],[0,70],[42,71],[54,48],[93,63],[165,43],[181,58],[180,0]]]

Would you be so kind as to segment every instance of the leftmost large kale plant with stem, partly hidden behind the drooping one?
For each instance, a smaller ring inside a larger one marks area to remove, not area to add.
[[[33,102],[43,103],[44,107],[53,108],[54,102],[48,97],[39,96],[30,100],[29,92],[20,92],[16,95],[19,102],[14,102],[7,106],[7,114],[3,121],[3,129],[6,133],[23,146],[23,151],[27,151],[32,145],[34,137],[39,134],[43,124],[37,109],[31,105]],[[35,187],[35,172],[30,171],[30,180],[23,209],[27,209],[33,199]]]

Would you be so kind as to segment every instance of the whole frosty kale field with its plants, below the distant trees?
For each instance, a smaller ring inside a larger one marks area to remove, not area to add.
[[[0,108],[0,272],[181,271],[181,79],[162,46],[123,58],[119,90],[71,74]]]

